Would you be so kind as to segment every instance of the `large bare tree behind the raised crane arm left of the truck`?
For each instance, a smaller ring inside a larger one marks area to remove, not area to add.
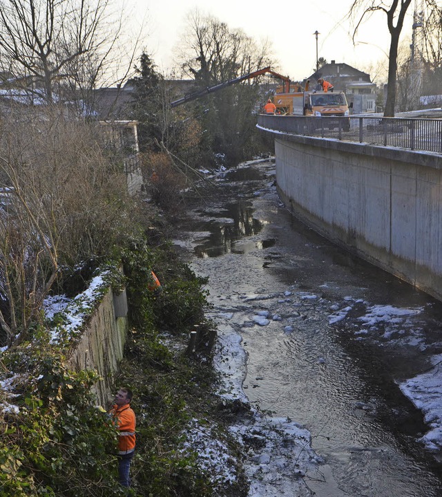
[[[270,66],[270,46],[196,10],[189,15],[181,42],[180,65],[185,75],[195,79],[195,86],[206,88]],[[195,103],[195,113],[200,112],[201,104],[209,110],[198,115],[206,130],[202,149],[207,157],[215,152],[227,162],[236,162],[247,156],[259,100],[258,79],[247,79]]]

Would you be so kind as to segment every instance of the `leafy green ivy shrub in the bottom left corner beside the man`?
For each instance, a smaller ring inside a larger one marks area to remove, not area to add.
[[[19,413],[3,415],[0,495],[121,495],[113,478],[117,433],[90,394],[97,375],[70,371],[55,350],[35,357],[34,366]]]

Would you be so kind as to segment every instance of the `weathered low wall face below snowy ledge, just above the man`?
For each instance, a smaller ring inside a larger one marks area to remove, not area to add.
[[[93,393],[105,408],[113,398],[113,377],[123,358],[128,331],[126,316],[126,292],[114,296],[109,288],[69,359],[75,371],[93,369],[102,377]]]

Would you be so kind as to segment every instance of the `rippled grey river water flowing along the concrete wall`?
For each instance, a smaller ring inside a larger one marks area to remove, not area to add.
[[[439,454],[398,388],[442,352],[442,304],[296,221],[270,162],[218,178],[187,229],[213,316],[242,336],[249,400],[303,424],[324,459],[311,493],[442,496]],[[372,306],[410,312],[368,328]]]

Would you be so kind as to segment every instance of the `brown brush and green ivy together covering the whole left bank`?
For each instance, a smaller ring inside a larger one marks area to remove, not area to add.
[[[244,495],[238,448],[223,428],[225,406],[218,409],[213,393],[216,377],[206,344],[215,328],[204,315],[204,279],[180,261],[168,241],[169,214],[182,207],[180,188],[198,176],[182,174],[167,153],[146,152],[150,160],[163,157],[167,171],[156,186],[148,182],[148,193],[157,189],[175,199],[163,204],[170,212],[158,210],[144,196],[127,195],[122,153],[103,142],[99,126],[66,119],[55,109],[41,118],[41,113],[26,113],[15,120],[11,114],[9,131],[0,140],[7,158],[0,165],[1,179],[8,191],[0,247],[5,346],[0,496],[124,494],[116,479],[117,433],[90,393],[97,374],[69,368],[75,339],[64,331],[61,317],[49,322],[42,312],[47,297],[72,298],[104,272],[107,284],[126,287],[130,308],[125,359],[115,379],[116,387],[135,393],[137,454],[129,494]],[[46,241],[43,247],[41,241]],[[148,290],[151,268],[162,282],[158,295]],[[97,302],[102,296],[97,294]],[[61,339],[53,343],[55,324]],[[189,355],[186,342],[194,326],[201,339]],[[186,446],[195,423],[213,433],[209,438],[224,441],[224,452],[236,461],[235,482],[217,479]]]

